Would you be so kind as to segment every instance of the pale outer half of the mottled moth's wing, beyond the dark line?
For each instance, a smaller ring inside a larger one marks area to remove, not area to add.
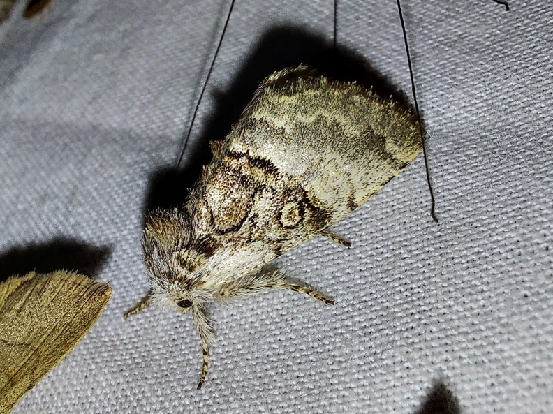
[[[313,72],[300,66],[268,78],[228,145],[300,179],[308,195],[332,209],[335,223],[413,161],[420,132],[416,117],[398,103]],[[260,140],[267,127],[272,134]]]

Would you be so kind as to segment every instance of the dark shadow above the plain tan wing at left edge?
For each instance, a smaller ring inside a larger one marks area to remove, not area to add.
[[[44,274],[57,269],[75,270],[94,279],[101,272],[111,251],[108,246],[91,246],[66,238],[15,247],[0,254],[0,282],[32,270]]]

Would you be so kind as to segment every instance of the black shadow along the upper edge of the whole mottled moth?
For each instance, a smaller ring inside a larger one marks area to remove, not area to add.
[[[225,47],[224,40],[222,47]],[[193,138],[193,143],[184,142],[189,125],[182,126],[182,145],[186,145],[182,168],[177,169],[175,165],[154,172],[145,200],[145,212],[176,207],[184,202],[189,188],[200,177],[202,165],[207,165],[212,158],[209,142],[225,138],[265,77],[300,64],[312,66],[334,79],[371,86],[384,98],[392,96],[395,101],[411,109],[406,95],[386,77],[379,75],[362,56],[342,47],[334,50],[331,40],[299,27],[274,27],[262,36],[258,46],[244,60],[230,88],[215,92],[215,110],[207,117],[205,125],[196,124],[193,129],[193,135],[194,131],[202,131],[200,138]],[[201,74],[202,79],[205,75]],[[213,94],[209,84],[206,94]]]

